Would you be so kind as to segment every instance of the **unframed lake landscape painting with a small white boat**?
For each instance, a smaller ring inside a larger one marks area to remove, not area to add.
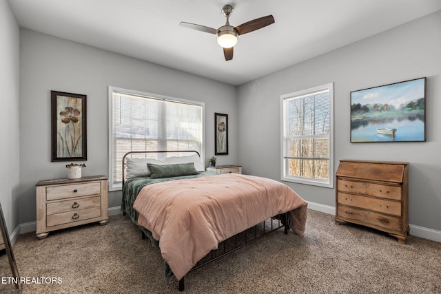
[[[425,77],[351,92],[351,143],[425,140]]]

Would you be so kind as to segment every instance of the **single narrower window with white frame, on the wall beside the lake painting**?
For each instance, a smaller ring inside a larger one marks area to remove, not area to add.
[[[282,180],[334,187],[332,83],[280,96]]]

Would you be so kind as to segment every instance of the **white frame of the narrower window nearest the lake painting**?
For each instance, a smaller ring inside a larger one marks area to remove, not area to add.
[[[287,101],[324,91],[329,92],[329,180],[289,176],[287,175],[287,156],[285,156],[287,154]],[[334,188],[334,83],[327,83],[280,96],[280,179],[286,182]]]

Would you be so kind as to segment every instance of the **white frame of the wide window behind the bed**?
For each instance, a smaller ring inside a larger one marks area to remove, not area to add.
[[[113,94],[114,93],[120,93],[120,94],[127,94],[127,95],[133,95],[133,96],[139,96],[139,97],[145,97],[150,99],[158,99],[161,101],[170,101],[175,103],[184,103],[189,105],[196,105],[202,107],[202,118],[201,118],[201,124],[202,124],[202,142],[201,142],[201,150],[198,150],[199,154],[201,155],[201,162],[205,162],[205,103],[200,101],[191,101],[183,98],[176,98],[176,97],[170,97],[170,96],[163,96],[159,94],[153,94],[153,93],[147,93],[147,92],[141,92],[136,90],[130,90],[125,89],[121,87],[108,87],[108,179],[109,179],[109,191],[121,191],[122,189],[122,183],[121,184],[115,184],[114,183],[114,176],[113,176],[113,113],[114,113],[114,103],[113,103]],[[128,152],[128,151],[127,151]],[[116,165],[121,165],[122,162],[116,162]]]

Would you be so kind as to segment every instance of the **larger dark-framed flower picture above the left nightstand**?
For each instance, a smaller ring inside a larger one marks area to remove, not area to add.
[[[51,91],[52,161],[87,160],[86,95]]]

